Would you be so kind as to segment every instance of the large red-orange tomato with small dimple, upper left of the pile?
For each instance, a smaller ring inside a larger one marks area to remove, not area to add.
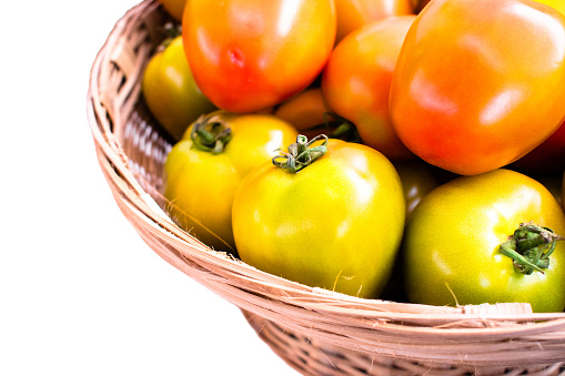
[[[333,0],[191,0],[186,57],[219,108],[253,112],[306,89],[335,41]]]

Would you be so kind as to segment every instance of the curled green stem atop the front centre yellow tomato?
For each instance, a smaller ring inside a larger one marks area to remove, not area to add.
[[[322,144],[312,146],[314,142],[322,139],[324,139]],[[281,149],[276,150],[281,152],[281,155],[273,156],[273,164],[290,172],[299,172],[325,154],[327,140],[325,134],[320,134],[310,141],[305,135],[299,134],[296,142],[289,146],[287,153],[282,152]]]

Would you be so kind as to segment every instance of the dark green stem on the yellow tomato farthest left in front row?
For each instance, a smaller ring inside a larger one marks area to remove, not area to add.
[[[194,122],[190,139],[198,150],[220,154],[232,139],[232,129],[225,125],[221,114],[214,112]]]

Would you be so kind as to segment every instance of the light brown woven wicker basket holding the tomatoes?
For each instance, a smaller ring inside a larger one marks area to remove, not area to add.
[[[212,251],[167,215],[171,142],[140,95],[171,21],[145,0],[115,24],[91,72],[88,116],[115,202],[161,257],[239,306],[259,336],[307,375],[565,375],[565,314],[528,305],[436,307],[312,288]]]

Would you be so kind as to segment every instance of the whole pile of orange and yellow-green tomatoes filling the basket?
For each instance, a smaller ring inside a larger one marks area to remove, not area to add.
[[[360,297],[565,308],[562,1],[161,2],[183,228]]]

